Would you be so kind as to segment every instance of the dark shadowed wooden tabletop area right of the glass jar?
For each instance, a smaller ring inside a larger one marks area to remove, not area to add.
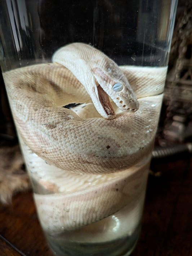
[[[192,255],[192,159],[158,163],[148,180],[143,226],[133,256]]]

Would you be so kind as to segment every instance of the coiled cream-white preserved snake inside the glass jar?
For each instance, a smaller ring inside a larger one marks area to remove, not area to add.
[[[106,218],[128,204],[133,187],[142,187],[146,165],[133,170],[152,151],[165,76],[166,67],[118,66],[85,43],[61,47],[52,63],[3,73],[21,144],[52,167],[49,182],[41,180],[51,193],[35,194],[45,229],[78,229]],[[79,105],[66,108],[71,103]],[[64,175],[85,185],[65,191],[56,181]],[[90,177],[101,182],[87,185]]]

